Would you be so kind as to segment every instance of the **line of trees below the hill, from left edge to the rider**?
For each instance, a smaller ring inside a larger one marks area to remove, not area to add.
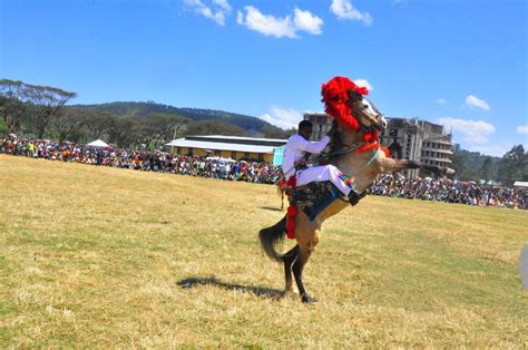
[[[186,135],[233,135],[250,136],[247,130],[222,120],[199,120],[173,113],[176,108],[154,103],[108,104],[110,110],[66,106],[77,97],[76,93],[26,84],[18,80],[0,80],[0,133],[25,135],[35,138],[50,138],[59,142],[86,144],[97,138],[121,148],[147,147],[156,149],[174,138]],[[153,108],[154,105],[154,108]],[[134,108],[134,113],[127,113]],[[165,111],[151,111],[165,110]],[[194,111],[197,114],[197,111]],[[213,111],[212,111],[213,113]],[[218,114],[219,111],[214,111]],[[242,115],[229,116],[244,121]],[[246,117],[247,118],[247,117]],[[256,119],[256,118],[255,118]],[[257,119],[258,120],[258,119]],[[262,121],[262,120],[260,120]],[[258,124],[260,125],[260,124]],[[284,132],[264,123],[261,137],[287,138],[295,130]]]

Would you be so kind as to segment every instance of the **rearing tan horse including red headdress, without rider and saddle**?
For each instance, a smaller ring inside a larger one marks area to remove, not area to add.
[[[409,168],[426,168],[438,176],[443,176],[449,168],[422,164],[417,161],[392,159],[378,142],[380,132],[387,127],[387,120],[364,95],[369,90],[358,87],[345,77],[334,77],[322,86],[322,101],[325,111],[334,121],[330,144],[330,161],[344,173],[353,191],[364,196],[365,189],[381,173],[393,173]],[[294,196],[295,197],[295,196]],[[303,284],[303,270],[321,240],[322,223],[349,206],[348,201],[331,202],[330,205],[309,217],[303,211],[295,211],[294,235],[297,244],[285,253],[276,251],[275,245],[284,240],[289,216],[283,217],[273,226],[258,233],[264,252],[272,259],[284,264],[286,293],[293,291],[295,279],[301,300],[313,302]]]

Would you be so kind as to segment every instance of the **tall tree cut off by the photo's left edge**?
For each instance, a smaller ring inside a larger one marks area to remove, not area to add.
[[[9,133],[17,134],[21,130],[21,118],[26,111],[26,91],[22,81],[0,80],[0,113]]]

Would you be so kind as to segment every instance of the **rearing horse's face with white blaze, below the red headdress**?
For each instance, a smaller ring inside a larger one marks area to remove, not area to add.
[[[387,119],[366,97],[353,89],[349,90],[349,106],[360,126],[366,130],[383,130]]]

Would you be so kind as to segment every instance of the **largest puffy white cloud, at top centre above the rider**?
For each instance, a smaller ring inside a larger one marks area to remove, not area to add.
[[[264,14],[252,6],[246,6],[244,9],[246,11],[245,16],[238,11],[236,22],[265,36],[297,38],[297,31],[305,31],[311,35],[322,33],[323,20],[310,11],[295,8],[292,20],[290,14],[277,18]]]

